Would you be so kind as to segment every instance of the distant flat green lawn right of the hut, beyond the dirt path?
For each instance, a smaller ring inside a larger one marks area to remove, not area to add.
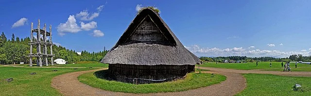
[[[285,64],[285,63],[284,63]],[[295,64],[291,64],[291,68],[293,69]],[[216,68],[227,68],[227,69],[240,69],[240,70],[251,70],[251,69],[275,69],[281,68],[280,62],[273,62],[272,67],[270,67],[270,62],[259,62],[258,66],[255,63],[205,63],[202,64],[203,67],[216,67]],[[298,67],[309,67],[311,68],[310,64],[297,64]],[[293,70],[294,71],[294,70]]]

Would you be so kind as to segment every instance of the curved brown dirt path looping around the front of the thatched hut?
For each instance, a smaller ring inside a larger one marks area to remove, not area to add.
[[[52,87],[65,96],[233,96],[238,92],[241,92],[246,87],[246,80],[241,74],[219,71],[207,71],[207,73],[217,73],[226,76],[226,80],[219,84],[171,93],[130,94],[110,92],[79,82],[78,76],[98,70],[103,69],[72,72],[59,75],[53,78]]]

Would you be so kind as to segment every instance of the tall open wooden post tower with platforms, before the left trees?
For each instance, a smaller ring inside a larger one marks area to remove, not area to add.
[[[37,33],[37,40],[33,40],[34,37],[34,32]],[[47,36],[50,36],[50,40],[49,42],[47,42]],[[41,37],[42,37],[42,41],[41,41]],[[33,66],[33,57],[37,58],[37,62],[36,64],[39,66],[42,66],[42,64],[45,64],[46,66],[49,65],[48,63],[48,58],[51,57],[51,64],[54,65],[53,62],[53,56],[55,56],[53,54],[52,51],[52,25],[50,25],[50,32],[46,31],[46,24],[44,24],[43,29],[40,29],[40,19],[38,19],[38,26],[37,29],[34,29],[34,23],[31,22],[31,31],[30,31],[30,54],[29,54],[29,66]],[[36,53],[33,53],[33,46],[36,46]],[[42,48],[43,53],[41,52],[41,46],[43,46],[44,48]],[[50,46],[51,49],[51,54],[48,54],[48,48],[47,46]],[[43,62],[42,62],[43,59]]]

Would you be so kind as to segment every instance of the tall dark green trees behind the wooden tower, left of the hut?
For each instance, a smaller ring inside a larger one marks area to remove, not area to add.
[[[34,41],[35,37],[32,38]],[[40,38],[42,41],[42,38]],[[30,54],[30,37],[19,38],[15,37],[14,33],[12,34],[11,39],[7,39],[4,32],[0,35],[0,64],[19,64],[24,62],[29,64],[28,54]],[[49,42],[49,41],[48,41]],[[41,50],[44,47],[41,46]],[[50,47],[48,47],[50,50]],[[47,51],[48,54],[51,54],[51,51]],[[77,62],[100,62],[108,50],[99,51],[99,52],[88,52],[86,50],[81,52],[79,55],[75,50],[69,50],[62,46],[52,46],[52,52],[55,54],[54,60],[61,58],[66,60],[69,63]],[[36,46],[33,46],[33,53],[36,53]],[[32,58],[33,63],[36,63],[36,58]],[[51,60],[49,60],[50,63]]]

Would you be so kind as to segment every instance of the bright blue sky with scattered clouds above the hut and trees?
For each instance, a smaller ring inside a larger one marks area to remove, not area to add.
[[[76,51],[113,47],[137,8],[155,6],[197,56],[311,55],[311,0],[1,0],[0,32],[52,25],[53,42]],[[37,4],[35,6],[35,4]],[[44,7],[42,6],[44,5]],[[42,27],[41,27],[42,28]]]

